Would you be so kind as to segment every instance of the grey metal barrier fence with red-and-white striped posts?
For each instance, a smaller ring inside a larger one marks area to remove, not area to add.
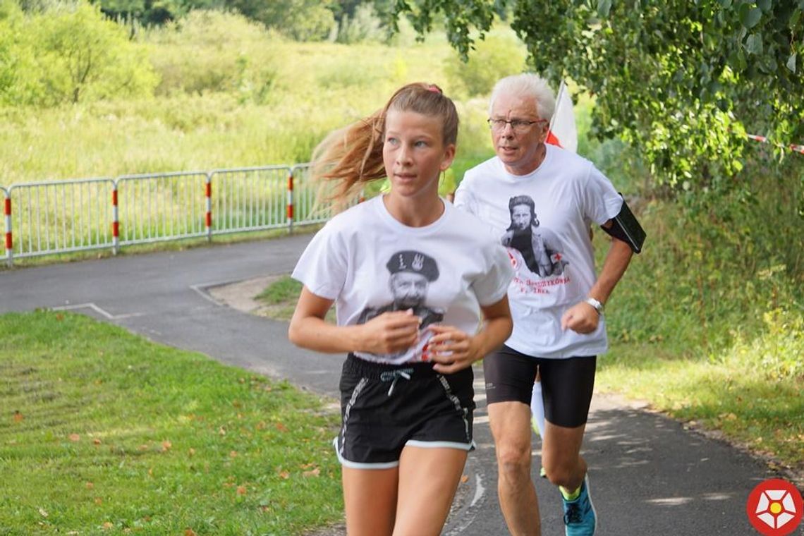
[[[310,166],[123,175],[0,186],[6,263],[136,243],[320,223]]]

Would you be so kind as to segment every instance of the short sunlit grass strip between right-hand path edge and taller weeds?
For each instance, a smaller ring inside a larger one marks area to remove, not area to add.
[[[804,332],[763,333],[716,357],[679,356],[667,344],[617,342],[599,361],[596,388],[642,399],[650,407],[770,456],[804,477],[804,374],[777,374],[761,349],[778,357],[789,344],[804,354]]]

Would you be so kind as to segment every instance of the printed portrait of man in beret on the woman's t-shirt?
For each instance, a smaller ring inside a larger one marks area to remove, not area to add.
[[[393,301],[378,308],[363,309],[357,323],[365,324],[372,318],[390,311],[412,309],[413,314],[421,318],[420,338],[416,345],[416,350],[420,352],[426,348],[427,341],[432,336],[432,333],[426,329],[427,326],[444,320],[443,309],[435,309],[427,305],[429,285],[438,279],[438,264],[433,257],[425,253],[407,250],[394,253],[385,267],[390,273],[388,288]],[[410,349],[384,357],[396,358],[408,351]],[[412,355],[412,358],[420,357]]]

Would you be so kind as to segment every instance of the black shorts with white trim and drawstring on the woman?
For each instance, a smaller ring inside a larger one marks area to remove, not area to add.
[[[432,362],[388,365],[349,354],[341,374],[341,464],[392,468],[405,446],[470,451],[472,368],[438,374]]]

